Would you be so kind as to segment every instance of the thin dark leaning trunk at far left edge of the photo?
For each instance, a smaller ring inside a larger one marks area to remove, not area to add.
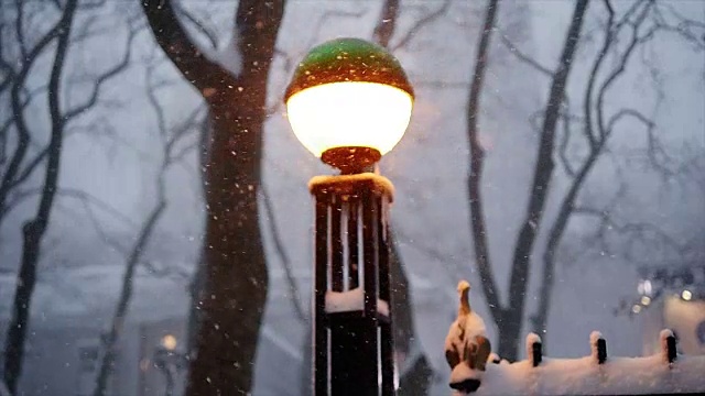
[[[77,0],[68,0],[64,8],[61,22],[62,29],[57,36],[56,53],[50,77],[48,108],[52,128],[46,172],[44,174],[44,186],[40,196],[36,215],[32,220],[26,221],[22,228],[22,261],[20,263],[14,300],[12,304],[12,318],[10,319],[4,345],[4,382],[12,394],[17,393],[20,375],[22,374],[24,344],[30,327],[30,308],[32,306],[32,294],[36,284],[40,248],[52,213],[58,180],[64,125],[66,121],[61,112],[61,79],[72,24],[76,12],[76,4]]]

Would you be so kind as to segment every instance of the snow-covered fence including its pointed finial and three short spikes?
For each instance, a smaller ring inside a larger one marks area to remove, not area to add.
[[[485,322],[469,304],[470,285],[460,280],[457,289],[458,317],[445,340],[454,395],[705,394],[705,355],[679,356],[671,330],[659,336],[661,351],[646,358],[608,358],[607,341],[593,331],[589,356],[550,359],[530,333],[527,360],[509,363],[491,353]]]

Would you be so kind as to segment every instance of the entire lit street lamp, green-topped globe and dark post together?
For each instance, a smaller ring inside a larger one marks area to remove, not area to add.
[[[393,186],[375,164],[399,143],[413,89],[384,48],[338,38],[313,48],[284,95],[301,143],[339,175],[315,198],[313,385],[323,395],[393,395],[388,245]]]

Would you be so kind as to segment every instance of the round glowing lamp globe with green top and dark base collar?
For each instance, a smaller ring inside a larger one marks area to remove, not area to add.
[[[301,143],[344,174],[362,172],[401,140],[413,89],[399,61],[383,47],[337,38],[314,47],[284,95]]]

